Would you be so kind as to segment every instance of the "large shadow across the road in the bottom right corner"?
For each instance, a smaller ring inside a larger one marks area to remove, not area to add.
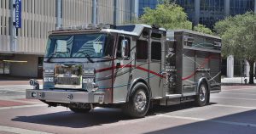
[[[171,117],[170,120],[173,120],[173,118]],[[146,132],[145,134],[254,134],[255,131],[256,110],[248,109],[247,111],[227,114],[217,118],[193,120],[192,123],[166,127],[157,131]]]

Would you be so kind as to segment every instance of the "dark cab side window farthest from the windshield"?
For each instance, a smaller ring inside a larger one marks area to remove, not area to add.
[[[151,59],[161,60],[161,43],[160,42],[151,43]]]

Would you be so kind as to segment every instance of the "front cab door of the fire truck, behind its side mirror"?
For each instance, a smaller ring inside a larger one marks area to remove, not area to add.
[[[122,44],[125,43],[125,48]],[[113,61],[113,103],[125,102],[130,87],[134,56],[131,53],[131,36],[119,35],[116,59]]]

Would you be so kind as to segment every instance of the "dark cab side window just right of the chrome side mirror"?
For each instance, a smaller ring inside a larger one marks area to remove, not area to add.
[[[136,53],[137,59],[148,59],[148,42],[137,40]]]

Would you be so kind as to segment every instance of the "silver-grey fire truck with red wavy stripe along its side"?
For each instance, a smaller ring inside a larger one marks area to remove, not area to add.
[[[133,118],[151,104],[209,103],[221,91],[221,39],[157,25],[81,25],[50,31],[43,87],[26,98],[75,113],[121,108]]]

